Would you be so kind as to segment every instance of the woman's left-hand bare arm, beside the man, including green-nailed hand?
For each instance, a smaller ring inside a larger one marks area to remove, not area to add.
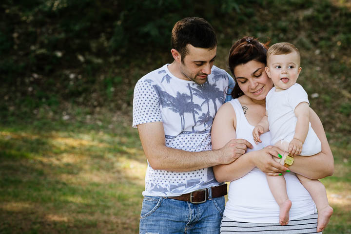
[[[212,149],[220,149],[228,140],[236,138],[235,126],[234,108],[230,103],[226,103],[219,108],[212,125]],[[272,155],[277,157],[278,153],[283,153],[283,151],[278,150],[272,147],[252,151],[241,155],[231,164],[214,166],[215,178],[219,182],[232,181],[244,176],[254,167],[258,167],[267,174],[278,175],[279,172],[287,170],[273,160]]]

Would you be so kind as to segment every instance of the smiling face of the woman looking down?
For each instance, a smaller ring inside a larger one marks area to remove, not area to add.
[[[265,67],[266,64],[250,61],[234,68],[237,84],[244,94],[253,100],[264,100],[273,87],[273,82],[267,76]]]

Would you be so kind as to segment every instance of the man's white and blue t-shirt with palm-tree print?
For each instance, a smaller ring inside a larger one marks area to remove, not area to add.
[[[166,146],[191,152],[211,150],[211,126],[218,108],[231,96],[233,78],[216,66],[206,83],[181,80],[167,65],[142,77],[135,86],[133,127],[162,122]],[[212,168],[188,172],[153,170],[148,163],[145,191],[149,196],[177,196],[218,186]]]

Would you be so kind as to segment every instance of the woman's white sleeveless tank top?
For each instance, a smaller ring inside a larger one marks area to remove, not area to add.
[[[254,146],[254,149],[248,149],[248,152],[271,145],[270,132],[260,136],[262,143],[254,143],[254,126],[247,121],[240,102],[234,99],[230,103],[236,115],[236,138],[246,139]],[[310,193],[302,186],[295,173],[286,172],[284,178],[289,199],[292,201],[289,220],[316,213]],[[278,223],[279,206],[269,189],[266,174],[254,168],[240,179],[232,181],[224,215],[240,222]]]

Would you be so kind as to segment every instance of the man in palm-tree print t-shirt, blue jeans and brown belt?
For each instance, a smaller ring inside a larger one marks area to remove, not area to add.
[[[228,139],[211,150],[211,126],[233,78],[214,66],[216,37],[201,18],[172,30],[172,64],[142,77],[134,90],[133,127],[148,160],[140,233],[219,233],[227,185],[212,166],[229,164],[252,145]]]

